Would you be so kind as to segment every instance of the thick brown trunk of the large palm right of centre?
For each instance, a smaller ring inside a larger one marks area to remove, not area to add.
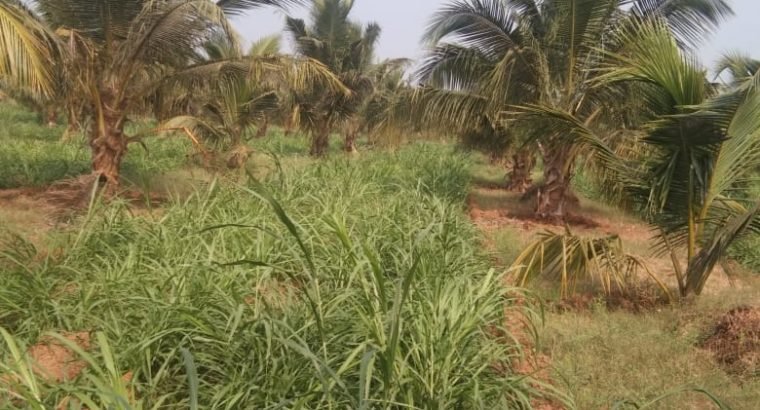
[[[553,221],[565,219],[570,198],[570,147],[556,145],[544,151],[544,183],[536,196],[536,217]]]

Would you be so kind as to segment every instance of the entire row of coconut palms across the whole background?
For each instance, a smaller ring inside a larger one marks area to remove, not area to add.
[[[719,87],[692,56],[731,14],[724,0],[450,0],[427,28],[416,86],[406,60],[375,63],[380,27],[352,21],[353,0],[288,18],[294,56],[273,39],[243,52],[228,18],[297,1],[32,3],[0,3],[0,77],[65,104],[70,124],[91,118],[93,170],[110,185],[139,140],[124,125],[146,111],[230,148],[232,165],[270,120],[303,129],[315,156],[332,132],[350,152],[361,131],[454,130],[511,158],[509,186],[540,218],[566,217],[579,160],[599,169],[658,229],[682,294],[760,229],[746,195],[760,168],[760,64],[727,58],[734,82]]]

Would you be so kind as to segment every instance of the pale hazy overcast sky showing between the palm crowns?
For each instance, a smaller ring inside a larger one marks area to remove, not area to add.
[[[700,48],[703,64],[712,67],[725,51],[739,50],[760,58],[760,0],[733,0],[736,15],[723,23],[720,30]],[[430,16],[446,0],[356,0],[353,19],[366,23],[376,21],[383,28],[378,57],[418,58],[422,54],[420,39]],[[294,9],[294,16],[306,17],[305,9]],[[243,35],[255,39],[281,33],[285,14],[281,11],[256,10],[236,19]]]

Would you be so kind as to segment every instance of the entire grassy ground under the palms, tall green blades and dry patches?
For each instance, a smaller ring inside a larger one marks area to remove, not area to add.
[[[86,145],[16,106],[0,122],[1,408],[603,409],[670,393],[648,408],[714,408],[694,389],[760,402],[757,375],[699,347],[760,300],[756,275],[683,305],[560,312],[551,292],[508,285],[544,227],[484,188],[503,170],[453,146],[345,156],[336,141],[314,161],[273,131],[246,175],[198,169],[179,137],[148,139],[125,180],[158,200],[93,197],[62,214],[44,187],[86,173]],[[587,233],[622,229],[646,252],[635,217],[582,205],[604,223]],[[35,370],[45,340],[86,369]]]

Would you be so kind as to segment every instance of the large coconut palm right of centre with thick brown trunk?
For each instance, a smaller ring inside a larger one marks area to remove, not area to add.
[[[611,155],[596,135],[616,128],[619,113],[608,109],[615,104],[607,90],[589,80],[604,51],[617,47],[614,34],[662,17],[687,45],[728,13],[723,0],[452,1],[435,15],[426,39],[437,45],[433,53],[447,50],[431,75],[458,95],[443,96],[444,108],[432,107],[461,119],[488,107],[485,112],[506,114],[499,120],[521,123],[523,137],[539,142],[543,157],[536,214],[563,219],[576,158],[591,149]]]

